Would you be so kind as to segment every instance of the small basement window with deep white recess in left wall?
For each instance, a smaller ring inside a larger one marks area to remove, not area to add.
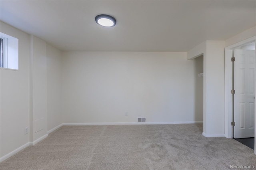
[[[19,69],[18,39],[0,32],[0,68]]]

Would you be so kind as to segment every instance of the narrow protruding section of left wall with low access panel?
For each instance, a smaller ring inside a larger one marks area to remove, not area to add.
[[[33,101],[33,138],[30,140],[34,141],[47,134],[46,42],[36,36],[30,36],[30,45],[30,81],[33,84],[33,94],[30,96]]]

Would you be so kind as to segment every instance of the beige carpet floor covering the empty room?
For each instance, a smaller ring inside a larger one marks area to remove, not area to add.
[[[63,126],[0,163],[1,170],[230,169],[253,165],[240,142],[202,136],[202,124]]]

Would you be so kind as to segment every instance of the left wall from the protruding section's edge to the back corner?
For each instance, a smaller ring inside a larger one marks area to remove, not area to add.
[[[30,37],[30,141],[35,141],[62,124],[62,62],[60,50]]]

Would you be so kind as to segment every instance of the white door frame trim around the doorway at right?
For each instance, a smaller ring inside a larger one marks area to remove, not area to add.
[[[226,138],[233,137],[233,128],[231,126],[231,122],[233,120],[233,115],[232,115],[233,102],[232,102],[232,94],[231,94],[232,74],[233,74],[231,57],[233,57],[233,49],[241,45],[244,45],[246,43],[255,42],[255,41],[256,41],[256,36],[253,36],[241,42],[225,47],[225,136]],[[254,90],[256,91],[256,83],[255,83]],[[254,110],[254,119],[255,119],[254,122],[256,122],[255,111],[256,109]],[[256,140],[254,140],[254,146],[256,146]],[[256,149],[254,149],[254,151],[256,151]]]

